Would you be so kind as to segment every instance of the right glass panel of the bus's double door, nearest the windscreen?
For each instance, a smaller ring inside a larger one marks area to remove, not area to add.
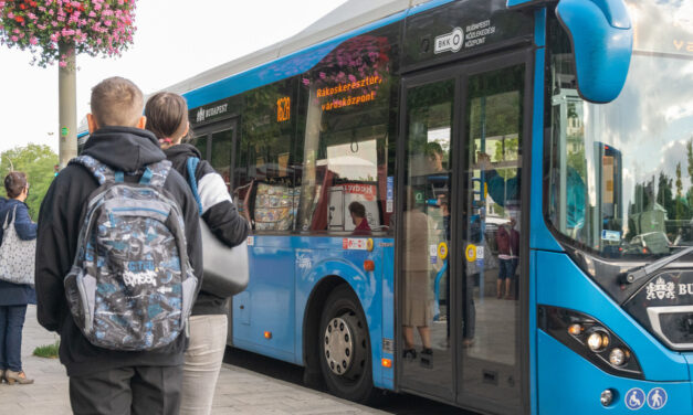
[[[519,402],[518,287],[524,65],[469,77],[460,212],[463,393]]]

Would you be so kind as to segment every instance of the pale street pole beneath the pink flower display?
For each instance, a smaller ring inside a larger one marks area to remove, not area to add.
[[[57,68],[59,89],[59,160],[61,169],[77,156],[77,82],[74,44],[60,43],[60,55],[65,66]]]

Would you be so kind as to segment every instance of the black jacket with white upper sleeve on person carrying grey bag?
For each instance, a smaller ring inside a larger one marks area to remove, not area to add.
[[[181,143],[169,147],[164,152],[166,158],[174,163],[174,168],[186,181],[189,181],[186,163],[190,157],[201,159],[200,151],[195,146]],[[248,221],[239,214],[221,175],[206,160],[200,160],[195,179],[202,202],[204,223],[227,246],[240,245],[248,237],[250,226]],[[225,301],[225,298],[207,291],[202,285],[200,295],[192,307],[192,315],[224,315],[227,313]]]

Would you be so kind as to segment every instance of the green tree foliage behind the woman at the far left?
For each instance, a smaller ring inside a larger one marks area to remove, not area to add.
[[[49,190],[53,181],[54,166],[57,164],[57,155],[45,145],[28,145],[25,147],[15,147],[11,150],[0,153],[0,173],[2,182],[4,177],[14,169],[14,171],[23,171],[27,173],[29,181],[29,196],[27,205],[32,220],[39,216],[39,209],[43,196]],[[0,194],[7,196],[4,185]]]

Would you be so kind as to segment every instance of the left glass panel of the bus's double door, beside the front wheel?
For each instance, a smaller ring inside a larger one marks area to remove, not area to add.
[[[450,338],[450,155],[455,81],[407,92],[406,198],[400,281],[402,383],[447,396]]]

